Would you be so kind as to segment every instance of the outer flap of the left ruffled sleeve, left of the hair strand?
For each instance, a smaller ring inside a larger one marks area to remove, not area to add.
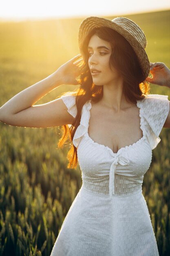
[[[75,103],[76,96],[64,95],[61,98],[67,107],[68,113],[71,114],[73,117],[76,117],[77,115],[77,106]]]

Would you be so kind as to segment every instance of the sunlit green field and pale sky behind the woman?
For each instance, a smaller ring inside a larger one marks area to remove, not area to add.
[[[135,21],[146,34],[151,62],[170,68],[170,1],[6,0],[0,3],[0,106],[79,54],[78,28],[88,16]],[[150,84],[151,94],[170,89]],[[62,85],[39,103],[74,90]],[[20,128],[0,123],[0,256],[49,256],[81,185],[68,169],[70,143],[57,149],[57,128]],[[163,129],[144,177],[160,256],[170,255],[170,131]]]

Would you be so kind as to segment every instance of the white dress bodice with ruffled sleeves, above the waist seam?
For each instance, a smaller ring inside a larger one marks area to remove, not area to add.
[[[76,117],[75,96],[65,95],[62,99],[68,112]],[[137,193],[141,190],[144,174],[152,160],[152,149],[160,141],[159,133],[168,116],[168,96],[150,94],[137,101],[143,137],[120,148],[117,153],[88,135],[91,107],[91,100],[84,104],[73,137],[84,188],[99,195],[110,195],[110,198]]]

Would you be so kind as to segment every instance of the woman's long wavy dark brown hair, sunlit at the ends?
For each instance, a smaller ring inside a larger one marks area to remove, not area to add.
[[[93,29],[93,31],[91,31],[91,33],[84,39],[83,43],[83,61],[79,63],[79,68],[81,69],[79,79],[80,87],[72,93],[69,93],[76,97],[77,115],[71,127],[68,125],[62,126],[63,134],[58,142],[58,146],[62,147],[67,139],[70,138],[72,141],[72,146],[67,155],[69,160],[68,168],[77,167],[77,148],[73,145],[73,137],[80,124],[82,107],[88,100],[98,102],[103,97],[103,85],[95,85],[93,83],[91,72],[88,67],[88,43],[91,36],[94,34],[102,40],[109,42],[112,47],[109,65],[110,67],[111,65],[115,67],[123,77],[123,90],[126,100],[136,103],[137,100],[143,99],[145,97],[144,95],[148,94],[150,90],[149,83],[145,80],[137,55],[130,43],[117,33],[117,31],[108,27]],[[64,95],[66,94],[68,93],[64,93]]]

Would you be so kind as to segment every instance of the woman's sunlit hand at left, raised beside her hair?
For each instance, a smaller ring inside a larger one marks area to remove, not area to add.
[[[81,72],[79,64],[82,61],[81,54],[73,57],[71,60],[64,63],[56,71],[56,76],[59,77],[61,84],[78,85],[79,81],[76,80]]]

